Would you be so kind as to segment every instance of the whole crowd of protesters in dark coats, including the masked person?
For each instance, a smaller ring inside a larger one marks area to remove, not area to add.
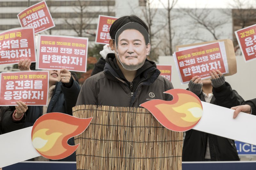
[[[130,26],[129,23],[136,23],[137,26]],[[159,76],[156,63],[146,58],[150,52],[148,26],[135,15],[124,16],[113,23],[110,37],[109,45],[104,46],[100,52],[102,57],[95,64],[92,76],[84,82],[81,91],[76,74],[64,68],[49,70],[47,106],[27,106],[23,101],[17,101],[15,107],[1,107],[0,133],[33,126],[40,116],[47,113],[72,115],[72,107],[76,105],[139,107],[147,101],[145,96],[149,92],[155,94],[154,99],[172,100],[171,95],[163,93],[173,88],[172,83]],[[117,46],[120,46],[118,52]],[[126,60],[132,62],[125,63]],[[122,62],[129,66],[142,64],[136,69],[126,69]],[[34,70],[31,61],[27,59],[20,60],[18,66],[20,70]],[[212,78],[204,80],[193,77],[187,90],[195,93],[202,101],[234,109],[234,118],[241,111],[256,115],[256,99],[244,102],[219,70],[212,70],[210,74]],[[68,144],[74,145],[74,139],[69,139]],[[33,160],[47,161],[44,157]],[[60,161],[75,160],[73,153]],[[193,129],[186,132],[182,161],[235,160],[239,160],[239,157],[234,140]]]

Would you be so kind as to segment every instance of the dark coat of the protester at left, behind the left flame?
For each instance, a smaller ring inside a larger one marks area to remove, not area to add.
[[[72,114],[72,107],[76,105],[77,96],[80,91],[80,86],[73,79],[70,88],[64,87],[61,82],[57,82],[52,98],[49,102],[47,112],[60,112],[68,115]],[[15,107],[10,107],[5,111],[1,123],[3,133],[8,133],[14,130],[19,130],[33,126],[36,120],[42,115],[43,106],[28,106],[27,112],[20,121],[13,121],[12,114]],[[68,140],[68,144],[75,145],[74,138]],[[65,159],[60,161],[76,161],[75,152]]]

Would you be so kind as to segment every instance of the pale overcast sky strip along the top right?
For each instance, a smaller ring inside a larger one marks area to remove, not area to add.
[[[159,0],[153,0],[158,8],[163,8]],[[167,5],[168,0],[161,0],[165,5]],[[256,0],[240,0],[242,2],[247,2],[248,4],[253,4],[256,9]],[[172,2],[172,0],[170,0]],[[231,8],[230,4],[234,4],[234,0],[178,0],[175,8]]]

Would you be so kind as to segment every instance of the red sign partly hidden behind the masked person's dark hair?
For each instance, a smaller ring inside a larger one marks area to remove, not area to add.
[[[99,15],[98,26],[96,31],[96,44],[108,44],[110,38],[109,29],[117,17]]]

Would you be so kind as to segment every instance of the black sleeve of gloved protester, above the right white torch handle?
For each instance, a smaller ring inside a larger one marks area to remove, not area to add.
[[[220,87],[213,87],[212,93],[218,106],[231,108],[234,106],[239,106],[244,102],[244,99],[231,88],[228,82],[225,82]]]

